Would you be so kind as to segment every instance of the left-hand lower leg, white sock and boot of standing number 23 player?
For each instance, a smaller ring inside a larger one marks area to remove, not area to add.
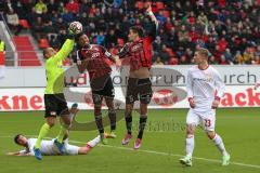
[[[192,155],[194,150],[194,132],[195,132],[195,125],[188,124],[186,129],[186,156],[180,159],[180,163],[192,167]]]

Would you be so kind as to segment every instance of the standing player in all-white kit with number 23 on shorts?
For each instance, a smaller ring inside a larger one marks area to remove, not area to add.
[[[208,56],[209,52],[206,49],[195,52],[196,65],[187,71],[186,89],[191,108],[186,117],[186,156],[180,159],[180,162],[187,167],[192,167],[194,133],[199,123],[203,123],[208,137],[222,154],[222,165],[230,163],[230,155],[225,150],[224,143],[214,132],[216,108],[223,95],[224,83],[219,72],[208,64]]]

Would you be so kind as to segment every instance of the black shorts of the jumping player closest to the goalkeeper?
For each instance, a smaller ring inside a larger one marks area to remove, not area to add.
[[[94,104],[100,104],[102,97],[115,97],[115,89],[110,75],[93,79],[91,81],[92,99]]]

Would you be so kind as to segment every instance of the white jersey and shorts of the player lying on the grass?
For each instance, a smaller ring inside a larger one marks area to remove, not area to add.
[[[21,150],[20,154],[29,154],[31,156],[35,156],[34,152],[34,146],[36,145],[37,138],[28,138],[28,148],[25,150]],[[73,146],[69,145],[67,141],[64,141],[64,147],[65,147],[65,152],[67,155],[78,155],[79,147],[78,146]],[[43,139],[41,142],[40,146],[40,152],[41,155],[60,155],[60,151],[57,147],[54,144],[54,139],[52,141],[46,141]]]

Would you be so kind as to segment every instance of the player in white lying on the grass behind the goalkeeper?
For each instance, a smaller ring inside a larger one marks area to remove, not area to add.
[[[14,137],[15,144],[25,147],[25,149],[16,151],[16,152],[8,152],[6,155],[14,156],[35,156],[34,146],[36,144],[37,138],[27,138],[23,134],[18,134]],[[44,156],[56,156],[62,155],[56,145],[54,144],[55,138],[53,139],[43,139],[40,145],[40,152]],[[87,143],[86,146],[79,147],[76,145],[68,144],[68,138],[64,139],[64,154],[65,155],[87,155],[96,144],[100,143],[100,135],[94,139]]]

